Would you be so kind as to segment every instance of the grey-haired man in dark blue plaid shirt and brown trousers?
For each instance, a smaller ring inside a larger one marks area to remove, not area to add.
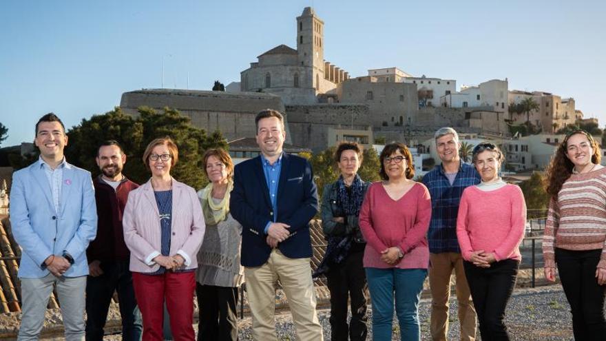
[[[430,332],[433,340],[447,340],[450,276],[454,269],[461,340],[474,340],[476,312],[463,271],[463,257],[457,240],[457,214],[463,189],[477,185],[480,176],[472,165],[461,162],[459,134],[454,129],[443,127],[437,130],[435,143],[442,163],[423,177],[423,183],[431,194],[432,206],[428,232],[432,296]]]

